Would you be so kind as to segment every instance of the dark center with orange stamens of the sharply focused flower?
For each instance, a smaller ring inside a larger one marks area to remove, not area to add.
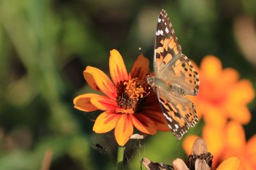
[[[119,109],[116,112],[134,113],[138,109],[141,99],[147,96],[149,91],[150,87],[143,80],[132,78],[129,81],[125,81],[118,94],[117,103]]]

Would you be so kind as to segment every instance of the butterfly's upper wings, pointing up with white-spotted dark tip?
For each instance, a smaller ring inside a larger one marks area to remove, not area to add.
[[[191,61],[182,53],[178,38],[166,11],[161,10],[157,20],[154,51],[154,73],[171,78],[186,94],[195,96],[199,89],[199,75]]]

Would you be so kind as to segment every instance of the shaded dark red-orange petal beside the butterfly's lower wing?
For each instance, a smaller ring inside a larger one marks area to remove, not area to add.
[[[144,113],[156,124],[157,131],[170,131],[162,111],[145,110]]]

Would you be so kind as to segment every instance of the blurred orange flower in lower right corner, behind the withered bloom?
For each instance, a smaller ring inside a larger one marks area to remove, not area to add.
[[[188,136],[183,147],[190,153],[193,142],[198,136]],[[241,161],[240,169],[256,169],[256,135],[246,143],[243,126],[237,122],[228,122],[224,127],[205,125],[202,138],[207,143],[208,150],[214,155],[214,167],[228,157],[237,157]]]

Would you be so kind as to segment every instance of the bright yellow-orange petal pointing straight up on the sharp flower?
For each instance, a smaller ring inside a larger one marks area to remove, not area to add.
[[[120,81],[128,80],[128,73],[124,64],[124,60],[117,50],[110,51],[109,72],[115,85]]]

